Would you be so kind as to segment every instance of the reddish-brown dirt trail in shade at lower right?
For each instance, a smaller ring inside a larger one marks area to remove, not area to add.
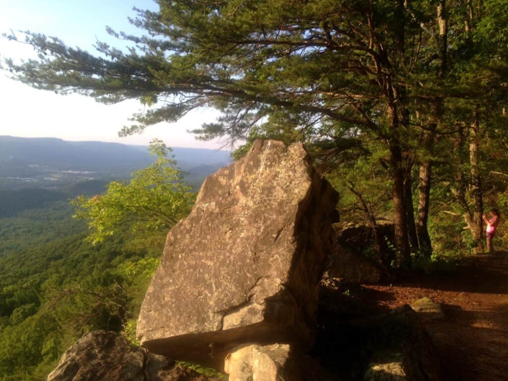
[[[508,252],[477,256],[447,277],[363,286],[362,299],[383,309],[429,297],[446,317],[425,323],[447,381],[508,380]]]

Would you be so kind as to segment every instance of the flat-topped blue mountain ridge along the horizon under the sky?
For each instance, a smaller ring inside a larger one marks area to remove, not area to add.
[[[99,141],[72,142],[57,138],[0,136],[0,164],[49,165],[62,170],[137,169],[153,161],[147,146]],[[174,147],[173,154],[184,169],[220,167],[230,163],[229,151]]]

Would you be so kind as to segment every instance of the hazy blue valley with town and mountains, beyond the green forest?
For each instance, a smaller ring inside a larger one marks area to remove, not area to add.
[[[195,191],[206,176],[231,162],[229,151],[175,147],[172,154]],[[0,136],[0,192],[5,193],[0,215],[40,205],[36,200],[100,194],[110,181],[129,179],[154,160],[148,146]]]

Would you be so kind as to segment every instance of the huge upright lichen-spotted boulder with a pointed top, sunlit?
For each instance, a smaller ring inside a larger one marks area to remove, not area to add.
[[[242,343],[313,341],[337,194],[301,144],[256,141],[168,234],[138,319],[150,352],[223,368]]]

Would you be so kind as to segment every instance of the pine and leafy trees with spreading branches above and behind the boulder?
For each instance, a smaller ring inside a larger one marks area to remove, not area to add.
[[[245,139],[239,155],[256,138],[303,141],[341,207],[374,227],[393,213],[398,265],[429,256],[431,236],[483,250],[484,200],[505,206],[506,2],[156,3],[132,20],[144,36],[108,28],[135,44],[127,52],[26,32],[39,58],[4,63],[35,88],[138,99],[148,108],[123,135],[214,107],[193,132]]]

